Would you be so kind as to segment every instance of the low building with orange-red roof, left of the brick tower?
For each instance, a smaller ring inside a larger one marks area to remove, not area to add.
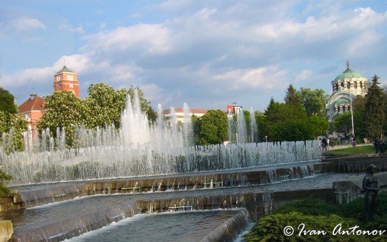
[[[44,102],[45,100],[40,96],[31,94],[29,99],[17,107],[17,115],[24,117],[30,130],[33,129],[33,126],[36,126],[38,120],[43,116],[45,112]]]

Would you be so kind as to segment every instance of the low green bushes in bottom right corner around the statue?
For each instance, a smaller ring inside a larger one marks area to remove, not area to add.
[[[363,218],[364,198],[337,205],[327,204],[320,199],[300,199],[282,206],[271,215],[259,218],[244,239],[245,241],[387,241],[387,232],[381,236],[333,235],[333,230],[339,224],[341,232],[348,231],[356,225],[359,227],[355,232],[387,230],[387,194],[379,194],[376,220],[365,223]],[[304,232],[310,232],[298,236],[302,230],[301,224],[305,225]],[[298,227],[300,225],[301,227]],[[293,235],[284,235],[284,228],[287,226],[293,227]],[[318,231],[320,233],[315,234]],[[326,234],[323,235],[321,231]]]

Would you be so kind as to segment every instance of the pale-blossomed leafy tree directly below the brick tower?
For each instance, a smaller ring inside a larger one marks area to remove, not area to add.
[[[64,128],[66,144],[73,146],[75,128],[86,121],[82,100],[70,91],[56,91],[45,98],[45,108],[47,111],[38,121],[38,129],[50,128],[51,135],[55,137],[56,128]]]

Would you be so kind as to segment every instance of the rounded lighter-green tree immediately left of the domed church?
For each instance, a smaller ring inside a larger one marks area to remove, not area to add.
[[[308,116],[319,115],[325,116],[325,92],[322,89],[306,89],[301,87],[297,92],[301,98],[301,103],[305,107]]]

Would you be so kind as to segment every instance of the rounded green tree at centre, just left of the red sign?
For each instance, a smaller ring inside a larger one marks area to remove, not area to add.
[[[199,145],[220,144],[228,137],[227,114],[209,110],[200,119],[193,119],[195,142]]]

